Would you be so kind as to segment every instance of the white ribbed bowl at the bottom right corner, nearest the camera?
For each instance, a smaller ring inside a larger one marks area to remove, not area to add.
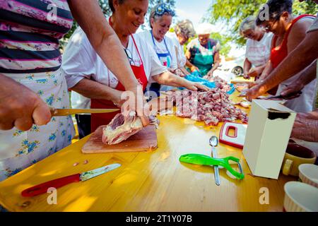
[[[318,212],[318,189],[302,182],[284,185],[284,209],[287,212]]]

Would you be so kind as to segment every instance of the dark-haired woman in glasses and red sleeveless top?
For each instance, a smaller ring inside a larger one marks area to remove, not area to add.
[[[300,42],[305,38],[306,31],[314,22],[315,16],[301,15],[293,16],[293,1],[292,0],[269,0],[267,1],[269,12],[269,20],[264,20],[264,11],[259,11],[256,23],[262,26],[267,32],[273,32],[273,41],[271,44],[271,57],[266,65],[261,77],[262,81],[266,76],[273,71],[285,57],[293,52]],[[293,66],[293,65],[290,65]],[[276,95],[281,93],[281,90],[287,85],[295,83],[301,76],[301,73],[288,78],[278,85]],[[302,95],[293,100],[288,100],[286,106],[293,109],[295,112],[310,112],[312,111],[312,102],[314,101],[314,89],[316,80],[312,81],[302,89]]]

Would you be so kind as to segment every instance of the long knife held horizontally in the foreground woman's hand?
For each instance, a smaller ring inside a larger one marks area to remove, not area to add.
[[[120,109],[71,109],[71,108],[54,108],[50,107],[52,117],[66,116],[69,114],[82,114],[82,113],[110,113],[117,112]]]

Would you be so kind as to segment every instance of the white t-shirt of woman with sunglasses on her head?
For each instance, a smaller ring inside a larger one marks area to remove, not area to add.
[[[173,41],[170,39],[170,37],[167,37],[167,35],[165,35],[164,37],[165,41],[162,40],[161,42],[158,42],[157,40],[155,40],[155,37],[151,36],[150,30],[145,30],[144,32],[140,32],[136,35],[140,35],[140,37],[142,37],[146,43],[150,44],[151,47],[153,47],[155,53],[166,54],[167,52],[169,52],[171,57],[168,57],[169,59],[161,58],[160,62],[161,64],[164,65],[165,61],[170,61],[170,66],[169,66],[169,62],[167,66],[170,69],[177,69],[177,57],[175,54],[175,47],[174,47],[175,44],[173,44]],[[155,44],[153,44],[153,41],[155,42]],[[165,44],[167,44],[167,47],[165,46]],[[156,54],[156,57],[158,59],[157,54]]]

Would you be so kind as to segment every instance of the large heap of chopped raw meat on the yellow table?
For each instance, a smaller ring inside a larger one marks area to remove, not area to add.
[[[176,115],[204,121],[207,126],[216,126],[220,121],[242,120],[247,123],[247,114],[235,107],[229,95],[223,90],[211,89],[207,92],[190,90],[167,91],[167,100],[174,101]]]

